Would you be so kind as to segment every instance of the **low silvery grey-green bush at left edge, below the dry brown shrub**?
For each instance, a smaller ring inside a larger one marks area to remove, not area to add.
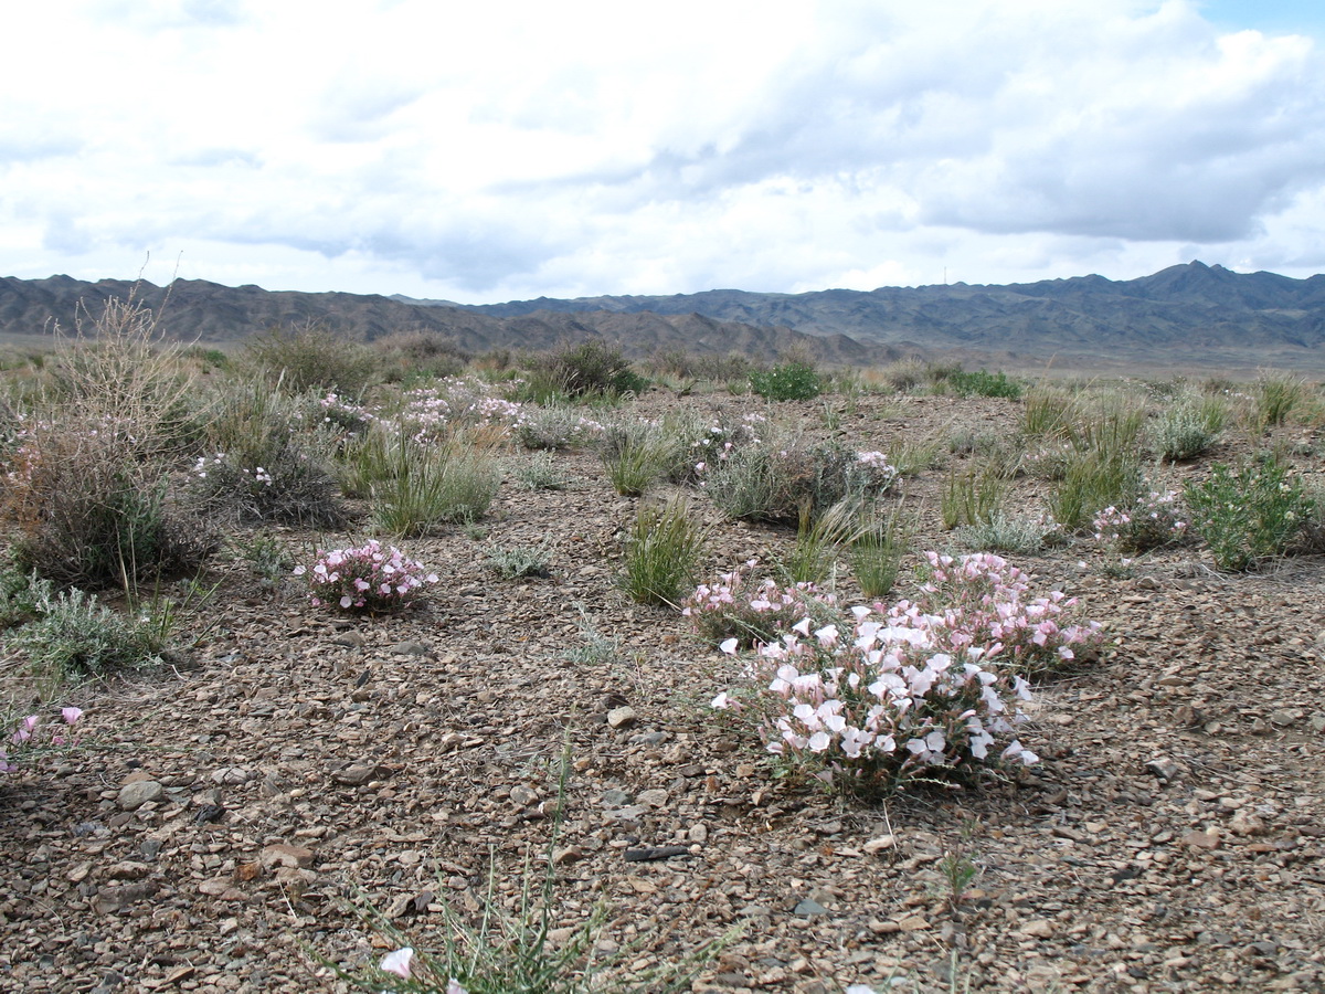
[[[11,636],[32,665],[69,676],[101,676],[159,661],[159,619],[111,611],[78,588],[44,596],[37,618]]]

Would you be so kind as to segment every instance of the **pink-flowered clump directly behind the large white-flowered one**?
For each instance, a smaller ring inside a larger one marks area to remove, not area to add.
[[[1061,591],[1034,595],[1026,573],[992,553],[926,551],[920,592],[894,604],[888,618],[931,632],[945,651],[980,647],[1003,667],[1041,673],[1094,656],[1104,644],[1097,622],[1071,623],[1076,603]]]

